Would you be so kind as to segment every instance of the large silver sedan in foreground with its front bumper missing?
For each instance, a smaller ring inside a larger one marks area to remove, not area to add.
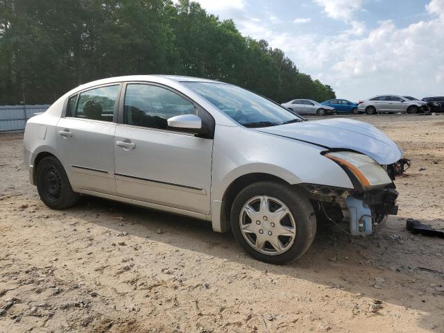
[[[31,118],[24,164],[56,210],[87,194],[211,221],[264,262],[305,253],[317,219],[370,234],[396,214],[401,149],[368,123],[304,121],[245,89],[180,76],[106,78]],[[328,217],[327,217],[328,216]]]

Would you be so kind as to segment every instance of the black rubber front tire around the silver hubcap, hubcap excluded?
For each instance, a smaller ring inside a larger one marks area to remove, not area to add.
[[[241,232],[241,211],[248,200],[257,196],[277,198],[287,205],[293,216],[296,237],[284,253],[275,255],[261,253],[248,244]],[[255,259],[271,264],[284,264],[298,259],[307,251],[316,234],[316,214],[309,200],[290,185],[271,181],[255,182],[245,187],[236,196],[231,208],[230,223],[234,238],[246,250],[246,253]]]

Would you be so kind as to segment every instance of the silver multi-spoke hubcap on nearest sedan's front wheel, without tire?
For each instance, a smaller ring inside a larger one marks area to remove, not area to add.
[[[241,233],[259,253],[280,255],[293,245],[296,223],[291,211],[272,196],[255,196],[248,200],[239,216]]]

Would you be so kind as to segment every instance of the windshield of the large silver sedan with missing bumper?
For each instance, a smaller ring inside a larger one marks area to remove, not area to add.
[[[182,82],[246,127],[295,123],[302,118],[262,96],[225,83]]]

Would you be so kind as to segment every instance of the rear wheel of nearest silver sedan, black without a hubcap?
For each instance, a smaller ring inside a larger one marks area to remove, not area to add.
[[[53,210],[71,207],[80,197],[72,190],[67,173],[56,157],[44,157],[37,164],[36,182],[43,203]]]

